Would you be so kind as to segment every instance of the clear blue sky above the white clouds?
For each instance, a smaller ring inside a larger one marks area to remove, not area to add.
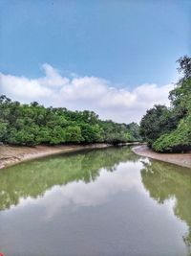
[[[191,52],[188,0],[0,0],[0,24],[0,72],[29,80],[48,63],[118,89],[163,86]]]

